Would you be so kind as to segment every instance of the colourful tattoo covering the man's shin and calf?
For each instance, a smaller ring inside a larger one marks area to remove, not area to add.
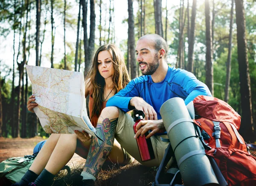
[[[105,142],[93,137],[84,166],[84,168],[86,168],[86,172],[93,176],[97,175],[99,169],[102,167],[112,150],[117,121],[118,118],[111,120],[106,118],[102,123],[98,123],[97,125],[96,134]]]

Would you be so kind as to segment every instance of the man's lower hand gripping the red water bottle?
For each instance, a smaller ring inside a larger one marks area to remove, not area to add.
[[[136,126],[137,133],[134,138],[136,139],[139,136],[145,135],[145,133],[149,130],[151,132],[146,136],[146,139],[150,138],[156,133],[165,132],[165,128],[163,125],[163,119],[160,120],[142,120]]]

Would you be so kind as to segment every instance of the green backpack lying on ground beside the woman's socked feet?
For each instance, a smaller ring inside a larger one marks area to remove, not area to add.
[[[20,181],[35,160],[36,155],[11,157],[0,163],[0,180],[6,177],[10,182]],[[1,182],[1,181],[0,181]]]

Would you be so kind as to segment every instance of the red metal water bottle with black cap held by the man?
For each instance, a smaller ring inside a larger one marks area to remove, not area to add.
[[[134,118],[135,124],[133,126],[135,134],[137,133],[136,126],[141,120],[143,120],[144,116],[145,114],[141,110],[138,110],[137,113],[135,114],[135,118]],[[151,139],[145,138],[147,135],[148,135],[148,132],[143,137],[139,136],[136,138],[142,161],[153,160],[155,158]]]

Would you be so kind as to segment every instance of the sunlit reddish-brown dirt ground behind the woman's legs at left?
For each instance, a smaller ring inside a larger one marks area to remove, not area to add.
[[[38,142],[43,141],[42,137],[34,137],[29,139],[23,138],[3,138],[0,137],[0,163],[9,157],[23,157],[32,155],[33,149]],[[75,154],[72,159],[79,159]]]

